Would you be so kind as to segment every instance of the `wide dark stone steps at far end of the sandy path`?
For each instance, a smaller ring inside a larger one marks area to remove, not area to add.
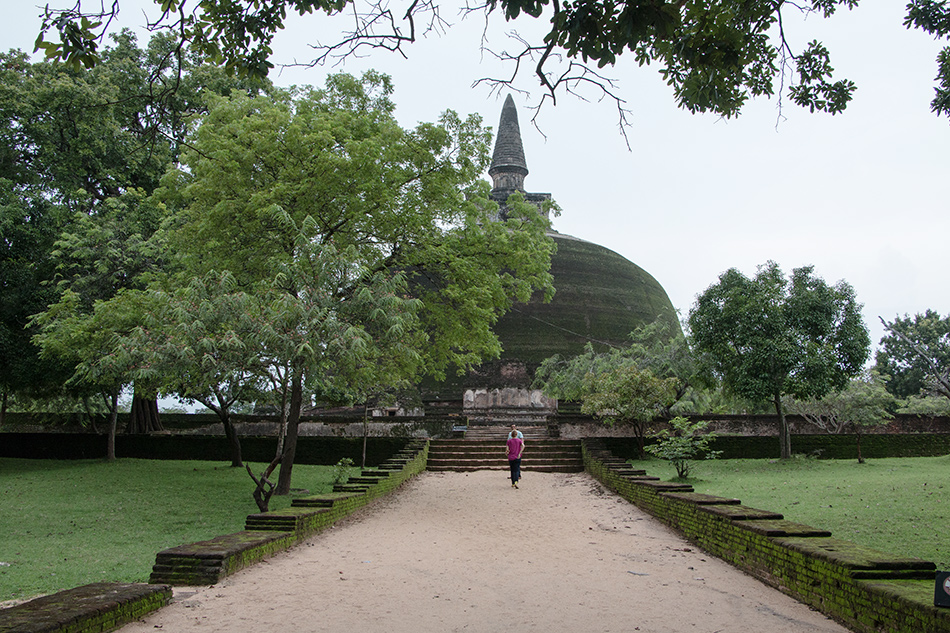
[[[578,473],[584,470],[580,440],[532,439],[526,432],[521,468],[527,472]],[[466,433],[468,435],[468,433]],[[426,470],[508,470],[505,434],[496,439],[431,440]]]

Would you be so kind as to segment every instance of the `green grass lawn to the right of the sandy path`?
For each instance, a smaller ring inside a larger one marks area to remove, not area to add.
[[[640,464],[643,462],[633,462]],[[696,492],[735,497],[789,521],[950,570],[950,456],[868,460],[730,459],[695,462]],[[647,473],[676,477],[667,462]]]

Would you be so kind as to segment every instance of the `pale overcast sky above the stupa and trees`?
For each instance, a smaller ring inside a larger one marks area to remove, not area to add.
[[[136,9],[142,1],[122,0],[122,26],[143,22]],[[941,43],[902,26],[903,4],[864,0],[829,20],[787,24],[793,45],[823,41],[836,76],[858,85],[847,111],[834,117],[786,102],[780,121],[775,98],[750,103],[738,119],[692,115],[676,107],[654,68],[622,60],[605,74],[618,81],[632,111],[628,150],[606,102],[562,96],[539,115],[541,131],[534,129],[529,107],[540,92],[525,73],[518,87],[532,95],[514,97],[530,170],[526,188],[560,204],[557,231],[644,268],[684,317],[723,271],[752,275],[767,260],[787,273],[811,264],[829,283],[849,282],[875,346],[883,331],[878,315],[928,308],[946,315],[950,121],[929,108]],[[6,8],[4,49],[32,50],[39,12],[29,0]],[[452,109],[479,113],[495,128],[507,93],[472,83],[509,71],[479,51],[482,21],[446,11],[443,17],[454,23],[447,34],[410,45],[408,59],[380,51],[341,68],[392,75],[404,126]],[[523,22],[517,26],[526,34]],[[489,45],[513,51],[506,29],[496,16]],[[278,39],[274,61],[309,60],[307,43],[321,32],[329,41],[325,18],[295,20]],[[319,85],[334,70],[287,68],[273,79]]]

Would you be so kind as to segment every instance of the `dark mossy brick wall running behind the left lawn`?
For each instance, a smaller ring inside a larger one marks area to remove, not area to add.
[[[366,463],[374,466],[404,448],[411,438],[371,437],[366,442]],[[212,435],[117,435],[116,455],[136,459],[200,459],[230,461],[227,439]],[[245,460],[269,462],[276,438],[242,437]],[[98,459],[106,454],[106,436],[87,433],[3,433],[0,457],[22,459]],[[332,465],[344,457],[360,463],[363,438],[300,437],[295,463]]]

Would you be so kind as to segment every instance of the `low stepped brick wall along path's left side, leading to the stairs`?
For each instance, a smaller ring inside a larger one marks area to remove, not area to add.
[[[341,518],[387,495],[425,470],[429,444],[410,442],[375,469],[364,470],[341,490],[294,499],[292,506],[247,517],[245,530],[159,552],[149,582],[213,585],[276,552],[293,547]]]

